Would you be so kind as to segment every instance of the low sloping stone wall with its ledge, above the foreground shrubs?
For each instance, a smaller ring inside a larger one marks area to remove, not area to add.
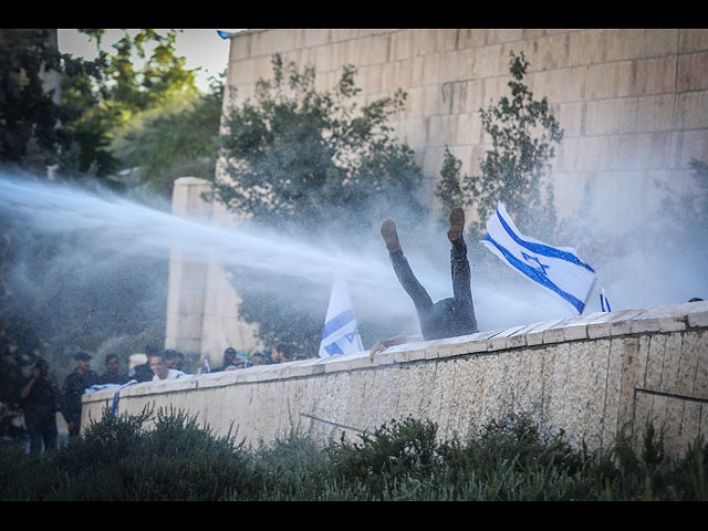
[[[114,389],[84,395],[83,426]],[[527,413],[573,445],[607,447],[622,429],[665,430],[668,456],[708,436],[708,302],[593,313],[367,352],[135,384],[118,413],[180,409],[257,444],[296,428],[315,441],[412,415],[468,436]],[[232,431],[233,433],[233,431]]]

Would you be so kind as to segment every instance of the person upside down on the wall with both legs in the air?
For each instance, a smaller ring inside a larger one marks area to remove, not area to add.
[[[392,219],[387,219],[381,226],[381,236],[386,243],[386,249],[388,249],[394,272],[403,289],[413,300],[425,341],[469,335],[478,331],[470,287],[471,272],[464,238],[465,211],[459,207],[452,209],[449,220],[450,229],[447,237],[452,246],[450,250],[452,296],[436,303],[433,302],[426,289],[413,273],[400,248],[396,223]],[[372,346],[369,358],[373,363],[374,356],[378,352],[393,345],[414,341],[420,341],[420,336],[396,336],[379,341]]]

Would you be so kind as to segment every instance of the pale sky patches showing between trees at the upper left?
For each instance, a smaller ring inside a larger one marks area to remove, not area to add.
[[[166,30],[158,30],[166,31]],[[236,32],[241,30],[219,29],[219,31]],[[85,59],[95,59],[96,43],[90,42],[86,35],[79,33],[75,29],[60,29],[59,49],[64,53]],[[107,29],[104,37],[103,48],[113,51],[112,45],[121,39],[123,30]],[[217,30],[207,29],[185,29],[177,35],[177,55],[186,58],[187,69],[201,70],[196,73],[197,86],[202,91],[209,87],[209,77],[217,76],[226,70],[229,60],[228,39],[222,39]]]

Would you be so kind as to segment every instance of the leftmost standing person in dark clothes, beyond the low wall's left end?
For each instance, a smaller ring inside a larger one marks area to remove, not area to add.
[[[56,449],[56,400],[62,389],[49,372],[49,362],[40,358],[32,376],[20,391],[24,409],[24,426],[30,438],[30,454]]]

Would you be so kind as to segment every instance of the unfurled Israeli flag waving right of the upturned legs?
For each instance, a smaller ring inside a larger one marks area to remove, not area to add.
[[[575,249],[551,247],[523,236],[501,202],[487,220],[487,237],[481,242],[575,314],[583,313],[595,282],[595,270],[577,258]]]

